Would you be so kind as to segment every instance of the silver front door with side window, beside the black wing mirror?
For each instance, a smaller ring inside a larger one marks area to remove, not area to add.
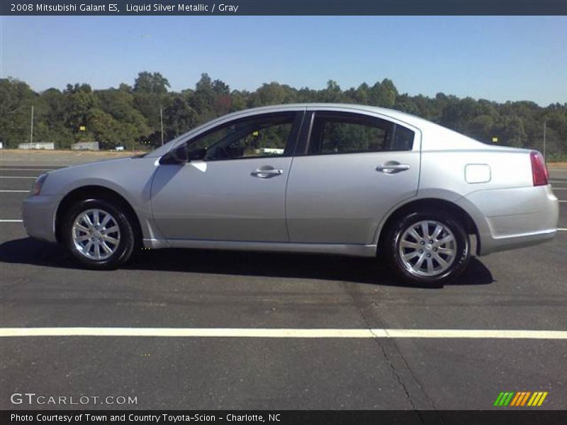
[[[288,242],[286,181],[303,111],[264,113],[187,142],[190,161],[161,164],[152,212],[167,239]]]

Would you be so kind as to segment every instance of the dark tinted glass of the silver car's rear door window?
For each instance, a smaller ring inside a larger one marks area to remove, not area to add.
[[[410,150],[412,145],[413,132],[389,121],[354,113],[317,113],[308,154]]]

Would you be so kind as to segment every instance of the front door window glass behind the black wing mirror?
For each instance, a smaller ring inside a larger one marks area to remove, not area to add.
[[[236,120],[189,142],[189,158],[206,161],[283,157],[291,145],[295,113]]]

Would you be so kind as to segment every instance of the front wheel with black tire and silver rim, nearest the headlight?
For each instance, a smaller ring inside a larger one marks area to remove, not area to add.
[[[87,199],[72,205],[63,220],[62,234],[69,252],[86,268],[118,268],[134,251],[133,225],[124,208],[109,200]]]

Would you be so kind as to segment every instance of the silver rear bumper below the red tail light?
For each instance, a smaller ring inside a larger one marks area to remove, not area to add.
[[[477,191],[457,203],[476,223],[480,255],[541,244],[557,233],[559,203],[551,186]]]

